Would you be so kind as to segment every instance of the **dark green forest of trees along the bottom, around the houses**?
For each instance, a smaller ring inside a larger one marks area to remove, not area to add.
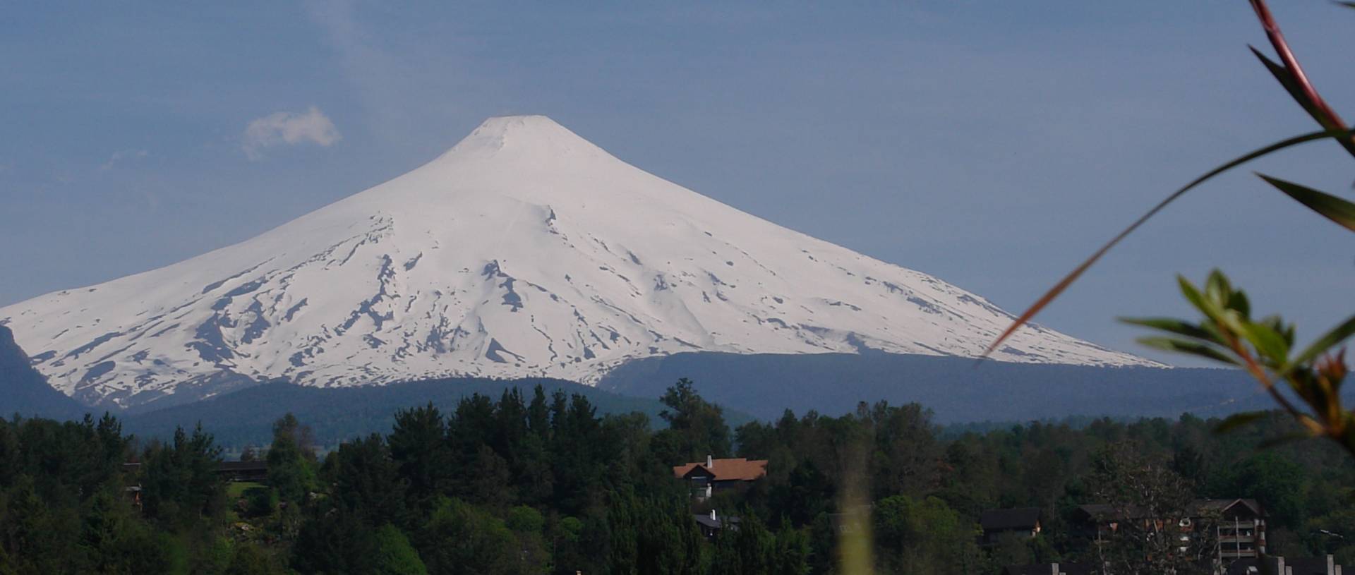
[[[600,416],[581,395],[514,388],[400,411],[322,456],[289,415],[245,453],[267,464],[255,483],[218,475],[201,426],[144,441],[108,415],[0,420],[0,574],[832,574],[848,481],[871,504],[878,572],[997,574],[1085,559],[1072,514],[1115,503],[1107,473],[1125,469],[1169,479],[1165,499],[1256,498],[1272,553],[1355,559],[1328,534],[1355,536],[1355,465],[1327,442],[1268,446],[1293,431],[1278,414],[1222,434],[1191,415],[943,434],[917,404],[730,429],[690,382],[663,403],[660,420]],[[672,465],[707,454],[768,473],[696,502]],[[694,515],[711,507],[740,528],[703,536]],[[999,507],[1041,507],[1045,529],[981,544],[978,515]]]

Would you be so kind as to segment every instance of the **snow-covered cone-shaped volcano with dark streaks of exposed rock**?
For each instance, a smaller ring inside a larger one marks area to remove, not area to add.
[[[631,358],[695,350],[973,357],[1011,319],[539,115],[491,118],[428,164],[251,240],[0,308],[53,386],[123,407],[245,377],[595,382]],[[1149,363],[1039,327],[995,358]]]

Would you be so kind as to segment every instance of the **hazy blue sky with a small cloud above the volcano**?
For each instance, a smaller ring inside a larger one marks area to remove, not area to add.
[[[1355,117],[1355,11],[1275,4],[1309,76]],[[1176,186],[1314,127],[1247,43],[1268,50],[1241,0],[12,4],[0,305],[248,239],[485,117],[546,114],[1016,312]],[[1327,142],[1253,167],[1347,197],[1352,168]],[[1114,317],[1184,313],[1173,275],[1217,266],[1312,336],[1350,311],[1351,248],[1240,171],[1041,321],[1142,353]]]

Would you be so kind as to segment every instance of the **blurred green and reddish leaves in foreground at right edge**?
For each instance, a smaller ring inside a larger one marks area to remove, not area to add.
[[[1256,54],[1290,96],[1321,126],[1321,130],[1295,136],[1243,155],[1176,190],[1056,283],[1054,288],[1035,301],[1030,309],[1022,313],[989,346],[989,351],[997,349],[1003,340],[1057,298],[1110,248],[1138,229],[1140,225],[1157,214],[1168,203],[1215,175],[1280,149],[1318,140],[1332,140],[1355,157],[1355,133],[1322,99],[1312,81],[1309,81],[1308,75],[1304,73],[1298,58],[1290,50],[1289,42],[1280,33],[1279,24],[1271,15],[1266,1],[1251,0],[1251,4],[1266,31],[1266,37],[1279,57],[1279,62],[1266,57],[1255,47],[1252,47],[1252,53]],[[1337,3],[1337,5],[1355,8],[1352,3]],[[1257,176],[1314,214],[1350,232],[1355,232],[1355,203],[1294,182],[1264,174],[1257,174]],[[1302,278],[1294,278],[1294,281],[1302,281]],[[1131,324],[1168,334],[1165,336],[1144,338],[1140,340],[1141,343],[1230,363],[1247,370],[1285,412],[1302,424],[1299,433],[1278,437],[1275,441],[1325,437],[1340,443],[1348,453],[1355,454],[1355,414],[1347,411],[1340,401],[1340,386],[1346,380],[1348,368],[1346,365],[1346,353],[1343,349],[1339,349],[1343,340],[1355,334],[1355,315],[1351,315],[1346,321],[1327,331],[1313,343],[1299,349],[1295,347],[1294,342],[1294,325],[1286,323],[1279,316],[1266,316],[1253,320],[1247,294],[1240,289],[1234,289],[1224,273],[1213,271],[1205,282],[1203,289],[1186,278],[1179,278],[1179,283],[1186,300],[1201,312],[1203,319],[1198,323],[1176,319],[1126,320]],[[1340,302],[1335,304],[1341,305]],[[1337,313],[1346,315],[1348,313],[1348,308]],[[1259,414],[1241,414],[1224,422],[1221,430],[1226,431],[1257,418]]]

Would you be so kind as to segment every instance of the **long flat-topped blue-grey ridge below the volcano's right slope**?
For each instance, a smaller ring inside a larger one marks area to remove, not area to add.
[[[878,400],[921,403],[939,423],[1207,416],[1275,407],[1255,381],[1228,369],[978,363],[885,353],[676,354],[626,363],[599,386],[657,397],[679,377],[694,380],[703,397],[757,418],[778,418],[787,408],[840,415]]]

